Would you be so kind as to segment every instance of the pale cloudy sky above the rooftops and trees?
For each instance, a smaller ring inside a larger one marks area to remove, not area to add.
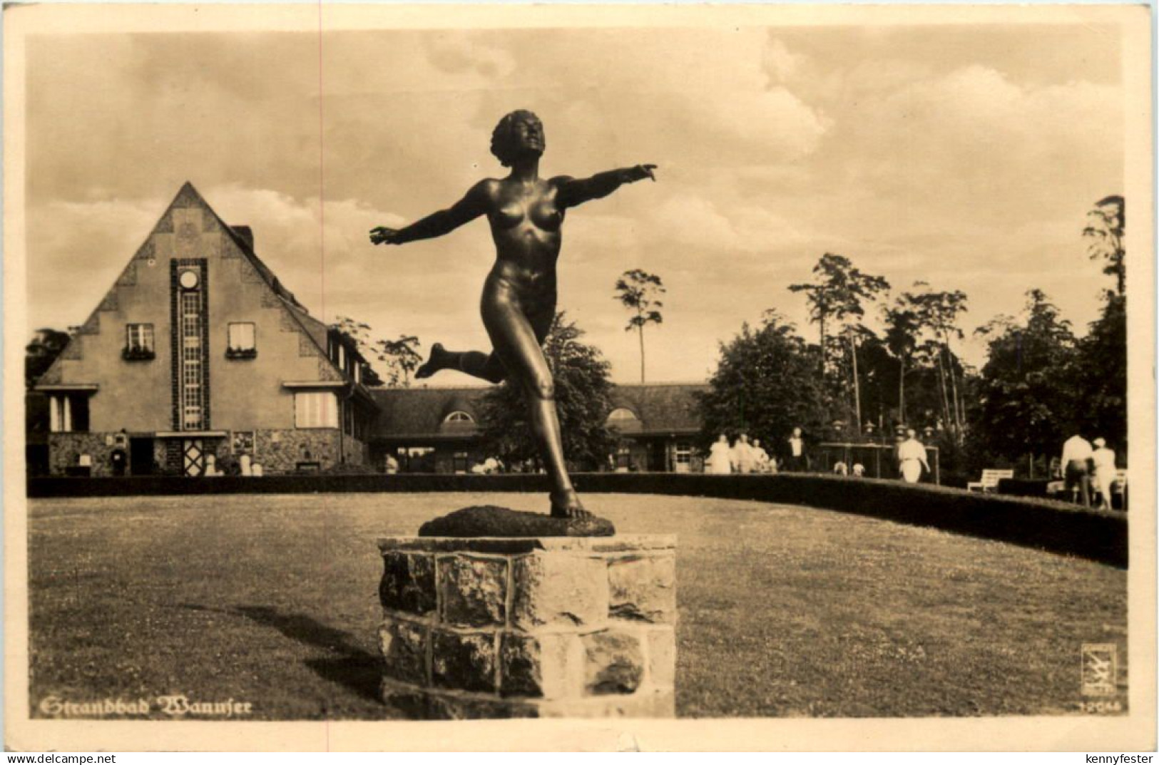
[[[389,249],[366,232],[501,175],[489,136],[515,108],[544,119],[544,175],[659,166],[564,226],[560,306],[619,381],[639,379],[612,299],[633,268],[668,286],[657,381],[704,379],[767,308],[815,337],[787,286],[825,252],[965,291],[968,332],[1034,286],[1085,332],[1109,286],[1080,232],[1123,191],[1115,27],[48,35],[28,54],[31,326],[80,323],[189,180],[315,315],[486,349],[484,220]]]

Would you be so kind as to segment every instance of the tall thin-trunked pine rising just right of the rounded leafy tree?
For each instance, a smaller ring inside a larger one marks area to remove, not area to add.
[[[821,325],[822,358],[825,352],[825,322],[832,316],[841,326],[848,343],[850,369],[853,382],[853,411],[857,432],[861,432],[861,388],[858,376],[858,344],[855,327],[861,326],[865,304],[876,300],[889,289],[884,277],[865,274],[844,255],[825,253],[812,268],[814,282],[792,284],[792,292],[808,296],[809,318]],[[822,360],[822,371],[824,371]]]

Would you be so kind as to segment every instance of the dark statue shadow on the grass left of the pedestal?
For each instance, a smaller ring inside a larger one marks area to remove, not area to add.
[[[349,633],[328,627],[304,613],[283,613],[269,606],[210,609],[187,603],[182,607],[245,617],[264,627],[272,627],[293,641],[336,654],[327,658],[307,658],[302,663],[319,677],[344,685],[365,699],[381,702],[378,688],[381,658],[359,648]]]

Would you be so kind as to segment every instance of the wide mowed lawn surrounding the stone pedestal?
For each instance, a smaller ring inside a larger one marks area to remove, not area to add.
[[[676,533],[681,716],[1078,713],[1083,643],[1125,665],[1125,571],[825,510],[588,495]],[[254,719],[377,719],[376,539],[519,494],[30,502],[41,699],[184,694]],[[1125,669],[1120,670],[1125,705]]]

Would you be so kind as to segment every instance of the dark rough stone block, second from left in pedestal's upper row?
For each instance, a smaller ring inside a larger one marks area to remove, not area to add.
[[[443,555],[438,559],[439,618],[458,627],[506,621],[508,562],[501,558]]]

